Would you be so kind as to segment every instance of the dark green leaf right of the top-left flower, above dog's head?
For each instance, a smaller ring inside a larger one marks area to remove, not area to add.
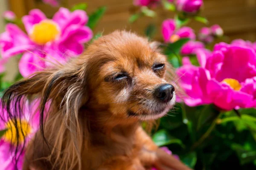
[[[103,7],[98,8],[92,14],[90,14],[87,26],[90,27],[91,29],[95,28],[96,24],[102,18],[103,14],[105,14],[106,9],[107,9],[107,7],[103,6]]]

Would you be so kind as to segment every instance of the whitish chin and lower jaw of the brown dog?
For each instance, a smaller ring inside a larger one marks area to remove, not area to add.
[[[165,106],[162,106],[158,109],[155,109],[155,111],[152,111],[152,109],[148,109],[149,111],[141,111],[141,113],[134,113],[131,110],[128,110],[128,115],[132,117],[136,117],[140,120],[154,120],[158,119],[160,117],[163,117],[168,113],[168,111],[172,108],[172,106],[175,104],[175,95],[173,96],[172,100],[167,103]]]

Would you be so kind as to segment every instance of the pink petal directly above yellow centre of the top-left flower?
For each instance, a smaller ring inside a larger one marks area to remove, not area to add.
[[[45,14],[40,9],[32,9],[29,11],[29,15],[22,17],[22,22],[29,34],[33,25],[40,23],[42,20],[47,19]]]

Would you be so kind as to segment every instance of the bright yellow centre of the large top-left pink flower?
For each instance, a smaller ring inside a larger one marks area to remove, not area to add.
[[[52,20],[43,20],[35,24],[29,33],[29,38],[39,44],[44,45],[47,42],[56,40],[60,36],[60,28]]]

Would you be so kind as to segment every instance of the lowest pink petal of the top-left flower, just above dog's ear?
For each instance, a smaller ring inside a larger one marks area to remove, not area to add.
[[[43,70],[45,68],[44,53],[41,51],[26,52],[20,59],[19,71],[23,77],[29,77],[29,75],[36,71]]]

